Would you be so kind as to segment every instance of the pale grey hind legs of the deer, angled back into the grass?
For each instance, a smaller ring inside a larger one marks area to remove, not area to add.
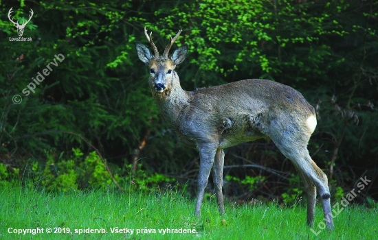
[[[294,134],[292,135],[294,136]],[[326,219],[326,227],[333,229],[333,218],[331,213],[331,202],[328,187],[328,179],[326,174],[315,164],[309,155],[307,150],[308,139],[302,138],[271,138],[276,143],[278,149],[289,158],[293,164],[297,167],[298,171],[307,178],[306,182],[312,182],[318,189],[320,197],[322,197],[323,213]],[[307,140],[307,141],[305,141]],[[311,187],[310,187],[311,189]],[[307,195],[310,196],[310,200],[315,202],[315,195],[307,191]],[[308,210],[308,214],[312,214],[313,203],[311,202],[311,208]],[[310,205],[307,205],[310,206]],[[309,212],[310,211],[310,212]],[[308,216],[309,217],[309,216]],[[309,221],[309,218],[307,219]],[[311,223],[311,219],[310,219]]]

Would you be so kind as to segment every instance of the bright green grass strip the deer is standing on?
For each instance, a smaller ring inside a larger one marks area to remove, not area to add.
[[[377,239],[377,209],[348,206],[335,218],[335,230],[318,236],[306,226],[304,203],[282,208],[278,204],[225,205],[219,215],[215,197],[205,200],[201,217],[194,217],[194,200],[170,189],[155,193],[126,191],[72,191],[45,193],[21,187],[0,191],[0,239]],[[302,205],[302,206],[301,206]],[[315,226],[322,221],[317,208]],[[17,235],[9,228],[43,228],[44,233]],[[46,233],[56,228],[61,233]],[[75,234],[75,229],[104,229],[107,233]],[[133,235],[111,233],[111,228],[133,229]],[[194,234],[166,233],[159,229],[195,229]],[[69,229],[70,233],[67,232]],[[151,233],[137,229],[150,229]],[[152,233],[153,230],[156,233]]]

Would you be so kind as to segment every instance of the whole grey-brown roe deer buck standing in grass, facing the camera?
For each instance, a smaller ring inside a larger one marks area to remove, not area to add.
[[[153,43],[152,33],[144,34],[155,55],[141,43],[136,44],[140,60],[150,67],[149,85],[162,115],[188,143],[197,145],[200,154],[197,203],[200,215],[203,193],[210,170],[218,201],[223,206],[223,161],[226,147],[265,138],[274,141],[291,160],[307,191],[307,224],[314,221],[316,188],[322,197],[326,226],[333,228],[330,193],[326,174],[313,162],[307,143],[315,130],[314,108],[293,88],[270,80],[248,79],[197,91],[184,91],[175,67],[184,61],[188,46],[179,47],[168,57],[172,38],[163,56]]]

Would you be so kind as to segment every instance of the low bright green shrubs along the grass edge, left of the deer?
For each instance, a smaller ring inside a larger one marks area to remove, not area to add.
[[[115,186],[127,186],[129,189],[156,191],[160,187],[175,182],[174,178],[168,178],[159,173],[147,173],[142,165],[134,176],[131,175],[131,165],[126,165],[122,171],[120,167],[103,162],[96,152],[89,152],[87,156],[80,149],[72,149],[72,155],[65,159],[64,154],[56,156],[53,152],[46,152],[47,160],[43,163],[32,163],[30,168],[34,182],[41,183],[41,187],[47,191],[76,191],[83,189],[101,189],[109,191]],[[9,181],[7,167],[0,164],[0,181]],[[120,174],[125,175],[124,178]],[[14,174],[14,177],[16,174]],[[30,177],[31,177],[30,176]],[[115,181],[115,182],[114,182]]]

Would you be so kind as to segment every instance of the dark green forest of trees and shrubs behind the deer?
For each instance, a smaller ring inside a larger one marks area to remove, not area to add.
[[[0,3],[0,184],[158,191],[177,183],[193,195],[198,152],[162,120],[135,51],[136,41],[148,45],[146,27],[159,49],[183,29],[173,49],[189,45],[177,67],[187,91],[247,78],[296,88],[317,112],[309,152],[333,197],[366,178],[354,201],[378,200],[377,1]],[[22,37],[31,41],[14,40],[8,15],[30,19]],[[292,203],[303,193],[271,141],[227,149],[224,176],[225,195],[239,202]]]

